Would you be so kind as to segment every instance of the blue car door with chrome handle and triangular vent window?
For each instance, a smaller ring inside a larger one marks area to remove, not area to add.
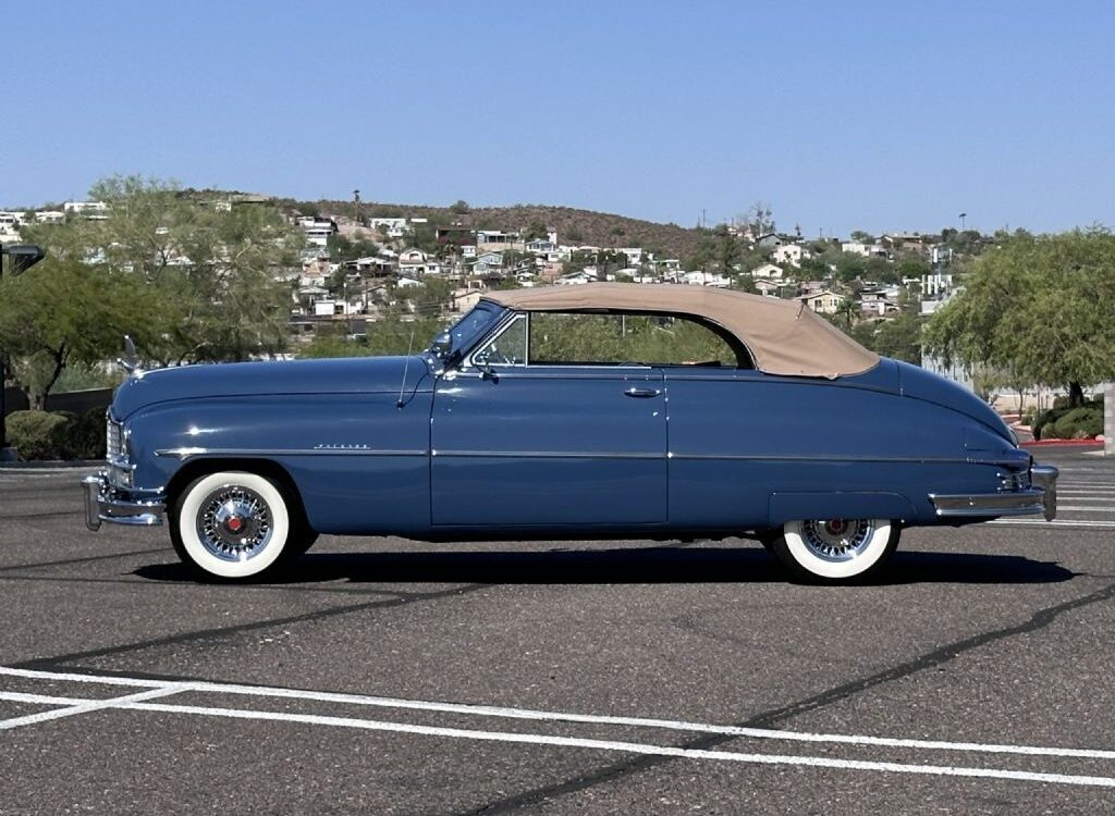
[[[430,426],[435,527],[665,523],[662,371],[529,365],[526,330],[518,315],[483,356],[438,379]]]

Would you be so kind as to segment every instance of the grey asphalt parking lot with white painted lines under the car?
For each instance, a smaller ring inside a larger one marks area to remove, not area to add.
[[[875,583],[747,541],[323,537],[279,583],[0,470],[0,814],[1016,814],[1115,802],[1115,460]]]

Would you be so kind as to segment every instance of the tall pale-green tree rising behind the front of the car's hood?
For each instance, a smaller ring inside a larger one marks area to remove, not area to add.
[[[72,299],[69,282],[97,280],[97,271],[125,282],[126,292],[108,288],[96,298],[112,311],[105,322],[162,365],[285,349],[290,280],[304,239],[275,207],[221,210],[174,183],[138,176],[105,178],[89,195],[109,205],[104,221],[37,225],[29,235],[76,264],[68,278],[45,281],[42,297]]]

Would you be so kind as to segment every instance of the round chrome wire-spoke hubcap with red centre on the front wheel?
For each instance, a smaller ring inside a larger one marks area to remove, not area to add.
[[[197,537],[222,561],[246,561],[259,555],[271,541],[271,508],[246,487],[221,487],[201,504]]]

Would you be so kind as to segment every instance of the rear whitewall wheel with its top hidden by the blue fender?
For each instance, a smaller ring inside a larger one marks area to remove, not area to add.
[[[901,530],[886,518],[786,522],[770,550],[798,579],[841,583],[881,567],[898,547]]]

